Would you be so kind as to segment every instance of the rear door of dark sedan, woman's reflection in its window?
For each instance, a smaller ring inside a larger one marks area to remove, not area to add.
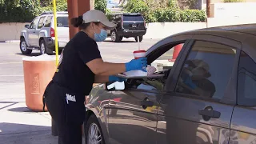
[[[240,42],[194,34],[166,82],[158,111],[158,143],[228,143],[239,49]]]

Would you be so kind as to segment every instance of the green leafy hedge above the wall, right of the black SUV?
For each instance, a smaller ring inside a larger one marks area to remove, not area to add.
[[[149,7],[150,5],[151,7]],[[176,0],[169,0],[168,7],[154,6],[147,0],[130,0],[126,12],[140,13],[146,22],[206,22],[204,10],[180,10]]]

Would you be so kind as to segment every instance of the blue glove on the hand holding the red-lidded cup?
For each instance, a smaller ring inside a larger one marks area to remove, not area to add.
[[[126,71],[142,70],[146,72],[147,58],[133,59],[126,63]]]

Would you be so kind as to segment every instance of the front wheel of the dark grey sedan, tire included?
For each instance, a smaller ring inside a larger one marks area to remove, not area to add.
[[[86,122],[85,127],[86,144],[105,144],[101,126],[99,126],[98,119],[94,114]]]

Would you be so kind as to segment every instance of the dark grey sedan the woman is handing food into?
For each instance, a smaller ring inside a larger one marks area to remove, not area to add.
[[[256,142],[256,24],[174,34],[146,52],[151,64],[182,50],[163,78],[94,86],[87,144]]]

